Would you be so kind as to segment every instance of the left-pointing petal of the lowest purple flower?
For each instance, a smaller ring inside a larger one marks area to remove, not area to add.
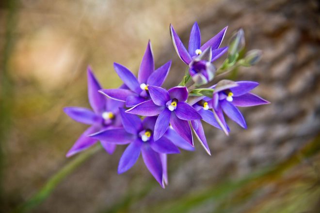
[[[134,141],[137,136],[126,132],[126,130],[123,128],[115,128],[92,134],[89,137],[109,143],[127,144]]]

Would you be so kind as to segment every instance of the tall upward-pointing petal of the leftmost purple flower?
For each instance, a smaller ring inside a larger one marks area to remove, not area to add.
[[[96,113],[102,113],[106,107],[106,99],[101,95],[98,90],[101,90],[101,86],[96,79],[96,76],[93,74],[90,67],[87,71],[88,77],[88,98],[89,103],[92,109]]]

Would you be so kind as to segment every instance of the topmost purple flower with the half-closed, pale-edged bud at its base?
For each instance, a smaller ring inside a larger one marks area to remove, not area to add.
[[[196,84],[203,85],[213,79],[216,68],[211,62],[221,57],[228,49],[227,46],[219,48],[226,29],[227,27],[201,46],[200,30],[197,22],[195,22],[190,32],[189,48],[187,51],[173,26],[170,25],[170,34],[176,52],[180,59],[189,65],[190,75]]]

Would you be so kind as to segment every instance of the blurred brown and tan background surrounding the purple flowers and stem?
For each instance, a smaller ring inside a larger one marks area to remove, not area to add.
[[[87,126],[62,108],[89,107],[88,64],[104,88],[118,87],[112,62],[137,73],[150,39],[156,67],[173,60],[164,86],[175,86],[185,65],[169,24],[187,44],[197,21],[203,42],[228,25],[223,46],[243,28],[246,48],[263,50],[258,65],[224,77],[260,82],[254,92],[271,104],[240,109],[248,129],[228,121],[229,137],[205,125],[212,156],[197,141],[196,152],[170,155],[165,190],[142,159],[118,175],[118,146],[88,158],[32,212],[318,212],[319,14],[317,0],[0,1],[1,211],[75,158],[65,153]]]

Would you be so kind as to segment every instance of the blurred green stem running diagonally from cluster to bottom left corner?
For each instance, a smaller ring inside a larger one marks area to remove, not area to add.
[[[54,174],[47,183],[35,194],[18,206],[13,213],[25,213],[31,211],[33,208],[41,204],[49,195],[53,192],[55,187],[64,180],[72,171],[79,167],[83,162],[93,156],[96,152],[101,150],[100,145],[89,149],[87,152],[83,152],[68,162],[62,169],[60,169],[56,174]]]

